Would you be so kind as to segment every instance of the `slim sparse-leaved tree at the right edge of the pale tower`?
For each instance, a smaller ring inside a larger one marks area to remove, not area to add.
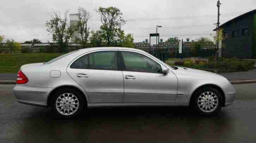
[[[91,14],[84,8],[78,8],[78,24],[76,30],[79,31],[80,37],[77,37],[76,41],[83,45],[83,48],[87,45],[90,27],[88,26],[88,21],[91,18]]]

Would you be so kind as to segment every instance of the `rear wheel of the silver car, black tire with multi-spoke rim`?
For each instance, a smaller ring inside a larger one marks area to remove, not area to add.
[[[51,98],[51,111],[57,118],[73,118],[84,111],[83,95],[72,88],[62,88]]]

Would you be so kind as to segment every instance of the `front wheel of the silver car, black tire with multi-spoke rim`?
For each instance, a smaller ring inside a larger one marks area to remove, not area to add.
[[[195,111],[201,115],[212,116],[222,107],[223,96],[218,89],[205,87],[199,89],[193,97]]]

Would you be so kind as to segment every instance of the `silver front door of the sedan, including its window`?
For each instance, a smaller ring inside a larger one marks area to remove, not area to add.
[[[124,103],[174,103],[177,78],[163,74],[161,65],[150,56],[129,50],[120,51],[124,70]]]

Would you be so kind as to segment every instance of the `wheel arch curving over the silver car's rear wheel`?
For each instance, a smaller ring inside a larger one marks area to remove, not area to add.
[[[78,87],[76,86],[73,86],[73,85],[62,85],[62,86],[58,86],[56,88],[54,88],[48,95],[47,97],[47,106],[50,106],[50,103],[51,103],[51,98],[53,97],[53,95],[60,89],[62,88],[72,88],[72,89],[75,89],[77,90],[78,92],[80,92],[82,95],[83,95],[83,98],[84,98],[84,101],[85,103],[87,104],[89,102],[89,98],[87,97],[87,95],[81,91],[81,89],[79,89]]]

